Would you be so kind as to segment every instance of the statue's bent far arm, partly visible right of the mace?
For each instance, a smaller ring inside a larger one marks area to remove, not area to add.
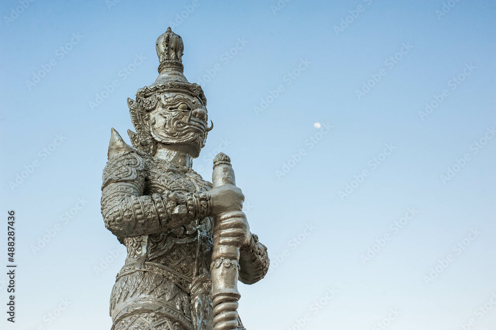
[[[269,269],[267,247],[251,234],[247,245],[240,249],[240,281],[253,284],[261,280]]]

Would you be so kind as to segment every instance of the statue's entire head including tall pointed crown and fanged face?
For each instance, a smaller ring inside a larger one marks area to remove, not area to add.
[[[128,98],[136,132],[128,131],[133,146],[153,156],[159,143],[168,149],[198,157],[205,145],[208,127],[207,100],[200,85],[183,74],[183,40],[171,28],[157,39],[159,76],[153,84],[138,89],[136,101]]]

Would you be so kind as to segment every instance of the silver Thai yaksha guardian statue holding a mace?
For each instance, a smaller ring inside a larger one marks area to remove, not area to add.
[[[105,226],[127,248],[112,290],[113,330],[245,329],[238,279],[265,276],[267,249],[249,231],[230,159],[213,185],[191,169],[205,145],[206,98],[183,74],[183,40],[157,40],[159,76],[127,99],[132,147],[112,129],[103,172]]]

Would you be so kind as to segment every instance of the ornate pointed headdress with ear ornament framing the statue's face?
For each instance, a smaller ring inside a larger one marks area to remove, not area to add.
[[[207,99],[201,86],[187,81],[182,63],[184,44],[183,39],[172,32],[171,28],[157,39],[157,55],[160,61],[159,75],[150,86],[140,88],[136,92],[136,101],[127,99],[131,121],[136,132],[128,130],[132,145],[147,154],[153,155],[157,141],[148,129],[148,113],[156,108],[161,101],[160,93],[186,92],[197,97],[206,106]]]

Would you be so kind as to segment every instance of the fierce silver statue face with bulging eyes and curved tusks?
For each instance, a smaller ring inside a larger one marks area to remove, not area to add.
[[[198,157],[210,131],[207,109],[200,99],[181,92],[162,93],[149,116],[150,133],[156,141]]]

